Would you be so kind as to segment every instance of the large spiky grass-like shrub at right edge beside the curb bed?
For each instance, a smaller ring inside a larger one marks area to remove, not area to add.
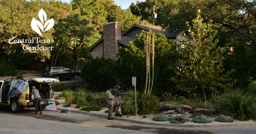
[[[256,97],[245,91],[242,87],[225,90],[217,100],[218,112],[235,120],[256,119]]]

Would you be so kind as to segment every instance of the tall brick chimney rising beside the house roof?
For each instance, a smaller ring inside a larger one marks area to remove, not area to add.
[[[119,22],[110,22],[103,24],[103,50],[105,59],[111,58],[117,60],[116,54],[120,45],[116,39],[121,39],[121,24]]]

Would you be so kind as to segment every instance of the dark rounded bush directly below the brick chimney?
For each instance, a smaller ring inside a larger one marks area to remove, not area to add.
[[[117,83],[115,63],[112,59],[96,58],[89,60],[81,70],[81,77],[90,84],[89,88],[97,91],[106,91],[107,85]]]

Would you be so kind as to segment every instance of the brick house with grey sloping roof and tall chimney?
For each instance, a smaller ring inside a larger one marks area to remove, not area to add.
[[[184,31],[174,31],[169,33],[168,31],[162,30],[159,26],[134,24],[131,28],[121,34],[121,24],[119,22],[110,22],[103,24],[103,37],[100,38],[86,51],[92,52],[92,58],[105,57],[117,60],[116,54],[120,46],[125,47],[127,44],[134,40],[136,35],[139,35],[142,30],[149,31],[149,28],[155,33],[161,33],[165,35],[167,39],[175,39],[176,43],[180,40],[185,39],[183,37]]]

